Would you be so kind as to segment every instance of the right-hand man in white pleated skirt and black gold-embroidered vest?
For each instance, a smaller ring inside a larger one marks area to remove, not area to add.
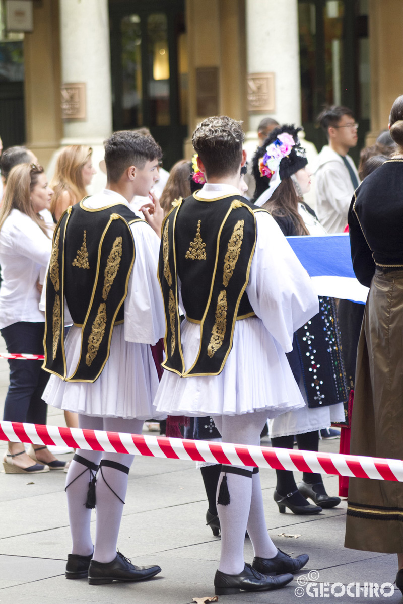
[[[193,146],[207,182],[163,223],[167,371],[155,404],[172,415],[213,416],[224,442],[259,445],[269,417],[304,405],[285,353],[295,330],[318,312],[318,298],[276,222],[240,196],[243,138],[228,117],[199,124]],[[217,508],[216,594],[282,587],[308,562],[269,538],[256,467],[223,464]],[[246,530],[252,565],[243,559]]]

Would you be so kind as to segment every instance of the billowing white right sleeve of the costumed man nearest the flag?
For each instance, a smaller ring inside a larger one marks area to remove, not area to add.
[[[276,221],[256,213],[257,241],[247,294],[256,315],[284,352],[291,352],[295,330],[319,312],[311,278]]]

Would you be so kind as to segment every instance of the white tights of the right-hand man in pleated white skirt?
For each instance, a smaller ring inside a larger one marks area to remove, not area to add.
[[[222,436],[222,442],[237,445],[260,445],[260,434],[268,419],[265,411],[254,411],[242,416],[214,417],[214,423]],[[237,466],[253,470],[251,466]],[[218,490],[225,472],[221,472]],[[243,543],[245,532],[253,545],[254,555],[272,558],[277,548],[271,541],[263,511],[263,496],[259,473],[252,477],[227,474],[231,503],[217,506],[221,526],[221,557],[219,570],[227,574],[239,574],[245,565]]]

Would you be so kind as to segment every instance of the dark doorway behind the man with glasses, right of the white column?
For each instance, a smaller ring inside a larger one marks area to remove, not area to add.
[[[324,104],[352,109],[359,124],[358,161],[370,120],[368,0],[298,0],[301,113],[306,138],[326,144],[315,120]]]

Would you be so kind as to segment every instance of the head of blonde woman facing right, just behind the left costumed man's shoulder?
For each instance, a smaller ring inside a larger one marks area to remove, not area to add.
[[[60,152],[51,182],[54,196],[50,211],[55,222],[69,205],[78,204],[87,196],[85,187],[91,184],[97,171],[92,167],[92,149],[86,145],[69,145]]]

